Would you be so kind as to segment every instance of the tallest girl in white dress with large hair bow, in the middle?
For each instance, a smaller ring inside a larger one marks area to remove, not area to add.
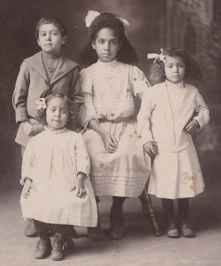
[[[121,239],[123,202],[142,193],[150,173],[150,159],[132,115],[133,95],[142,98],[151,85],[140,69],[125,64],[137,59],[124,34],[126,20],[89,11],[86,26],[90,26],[90,41],[82,56],[92,65],[80,73],[84,93],[80,116],[87,129],[83,137],[90,157],[90,180],[97,203],[99,196],[113,196],[110,238]],[[99,219],[96,228],[88,228],[88,235],[94,240],[103,238]]]

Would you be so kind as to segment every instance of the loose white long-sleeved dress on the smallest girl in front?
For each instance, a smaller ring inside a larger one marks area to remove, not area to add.
[[[24,218],[44,223],[77,226],[97,225],[97,206],[89,179],[90,162],[82,135],[68,129],[45,131],[32,137],[22,161],[22,179],[32,179],[37,192],[21,196]],[[70,192],[77,173],[87,175],[84,184],[87,193],[82,198],[76,190]]]

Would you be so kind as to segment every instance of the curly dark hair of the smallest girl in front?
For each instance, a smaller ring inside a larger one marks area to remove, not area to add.
[[[68,129],[76,129],[80,125],[80,123],[79,123],[79,115],[75,107],[75,104],[66,95],[62,93],[54,93],[54,94],[48,95],[45,98],[46,106],[48,105],[50,100],[52,100],[53,98],[61,98],[66,101],[68,111],[69,111],[69,116],[68,116],[67,124],[65,125],[65,127]],[[43,108],[41,108],[40,110],[37,110],[37,116],[34,118],[43,125],[47,125],[46,110],[47,109],[43,109]]]

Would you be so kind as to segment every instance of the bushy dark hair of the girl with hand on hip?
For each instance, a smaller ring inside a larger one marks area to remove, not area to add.
[[[185,62],[186,65],[186,71],[185,71],[185,77],[184,80],[188,83],[192,83],[194,80],[199,80],[201,77],[201,69],[197,62],[188,55],[185,51],[182,49],[176,48],[176,47],[169,47],[169,48],[163,48],[164,52],[163,55],[165,56],[180,56]],[[165,72],[164,72],[164,62],[161,61],[159,58],[156,60],[155,63],[152,63],[150,66],[150,81],[151,84],[157,84],[160,82],[165,81]]]

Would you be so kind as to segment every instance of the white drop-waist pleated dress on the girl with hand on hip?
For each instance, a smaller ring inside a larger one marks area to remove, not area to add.
[[[143,144],[154,141],[159,147],[150,174],[149,194],[177,199],[203,192],[205,185],[191,134],[183,130],[192,119],[198,121],[200,129],[210,120],[196,87],[166,80],[144,93],[137,116],[138,132]]]

